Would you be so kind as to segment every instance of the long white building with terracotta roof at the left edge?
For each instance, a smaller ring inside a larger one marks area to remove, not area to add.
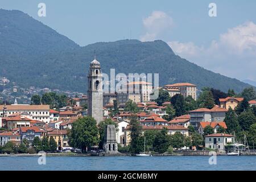
[[[4,107],[5,114],[3,114]],[[46,123],[50,121],[49,105],[0,105],[0,117],[8,117],[15,113],[28,113],[32,119]]]

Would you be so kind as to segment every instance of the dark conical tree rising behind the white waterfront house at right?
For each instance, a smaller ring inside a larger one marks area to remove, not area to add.
[[[240,125],[238,123],[237,114],[233,109],[229,108],[228,112],[225,115],[224,122],[226,123],[226,127],[228,127],[228,129],[226,130],[228,133],[234,134],[235,132],[236,134],[238,134],[238,132],[240,131]]]

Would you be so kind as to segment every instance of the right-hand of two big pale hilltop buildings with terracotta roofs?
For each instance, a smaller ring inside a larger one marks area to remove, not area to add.
[[[191,83],[177,83],[171,85],[165,85],[164,89],[170,94],[170,97],[175,96],[175,94],[181,94],[184,97],[191,96],[196,100],[196,85]]]

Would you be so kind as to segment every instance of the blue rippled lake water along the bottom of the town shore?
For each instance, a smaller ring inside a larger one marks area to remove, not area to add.
[[[256,156],[47,156],[39,165],[37,156],[0,156],[0,170],[256,170]]]

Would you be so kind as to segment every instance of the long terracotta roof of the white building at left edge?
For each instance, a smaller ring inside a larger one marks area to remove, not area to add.
[[[0,105],[3,110],[5,105]],[[49,105],[6,105],[7,110],[49,110]]]

